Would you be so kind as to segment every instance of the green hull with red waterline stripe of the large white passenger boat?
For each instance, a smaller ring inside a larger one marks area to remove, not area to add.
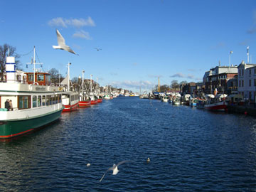
[[[50,122],[60,118],[62,110],[55,111],[41,117],[31,119],[21,119],[16,121],[1,121],[0,122],[0,139],[9,139],[21,134],[26,134],[34,129],[42,127]]]

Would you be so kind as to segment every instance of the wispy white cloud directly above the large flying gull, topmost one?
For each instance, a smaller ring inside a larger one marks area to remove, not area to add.
[[[48,21],[49,26],[61,26],[64,28],[68,28],[68,26],[72,26],[75,28],[80,28],[83,26],[96,26],[95,21],[92,20],[90,16],[88,18],[62,18],[57,17]]]

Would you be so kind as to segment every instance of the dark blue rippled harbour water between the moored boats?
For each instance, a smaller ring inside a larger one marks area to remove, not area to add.
[[[99,182],[124,160],[132,162]],[[0,143],[0,191],[256,191],[255,183],[255,118],[159,100],[104,100]]]

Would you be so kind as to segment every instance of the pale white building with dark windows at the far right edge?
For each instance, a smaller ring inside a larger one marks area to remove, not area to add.
[[[238,66],[238,93],[245,99],[255,102],[256,64],[245,64],[242,61]]]

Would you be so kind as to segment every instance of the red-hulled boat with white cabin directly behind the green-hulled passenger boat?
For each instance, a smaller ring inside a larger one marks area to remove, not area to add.
[[[78,110],[78,93],[67,91],[63,92],[62,102],[64,105],[63,112],[72,112]]]

